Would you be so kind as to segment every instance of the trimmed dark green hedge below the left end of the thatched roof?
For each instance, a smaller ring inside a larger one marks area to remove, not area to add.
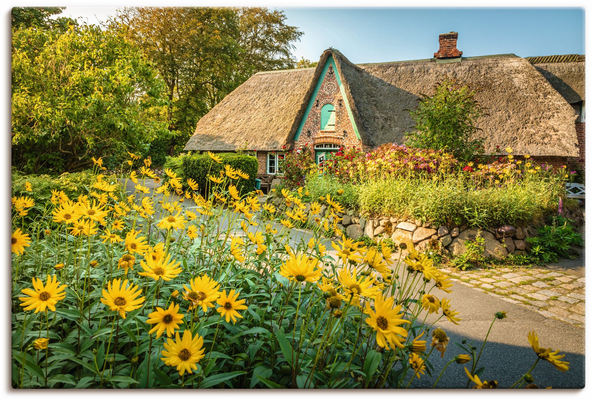
[[[218,153],[221,157],[222,163],[217,163],[206,154],[192,154],[191,156],[183,156],[181,164],[181,173],[184,184],[188,178],[195,179],[200,186],[200,190],[210,187],[212,182],[208,181],[208,175],[220,176],[220,171],[224,169],[226,164],[229,164],[234,169],[240,169],[250,179],[239,179],[236,183],[236,188],[241,194],[249,193],[255,190],[255,178],[259,169],[259,162],[257,157],[244,156],[235,153]]]

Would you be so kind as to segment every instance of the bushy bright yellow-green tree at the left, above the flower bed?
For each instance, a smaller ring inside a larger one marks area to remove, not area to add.
[[[12,163],[76,171],[92,156],[168,137],[162,79],[121,32],[95,25],[12,33]],[[155,111],[156,110],[156,111]]]

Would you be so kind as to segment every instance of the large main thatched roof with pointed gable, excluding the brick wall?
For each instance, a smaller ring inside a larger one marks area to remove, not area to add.
[[[365,150],[403,143],[413,130],[408,109],[432,95],[448,75],[483,90],[476,96],[488,117],[478,127],[485,152],[511,146],[515,154],[577,156],[577,113],[527,60],[514,54],[352,64],[335,49],[315,69],[258,73],[223,99],[197,124],[186,150],[290,148],[324,63],[333,56]]]

